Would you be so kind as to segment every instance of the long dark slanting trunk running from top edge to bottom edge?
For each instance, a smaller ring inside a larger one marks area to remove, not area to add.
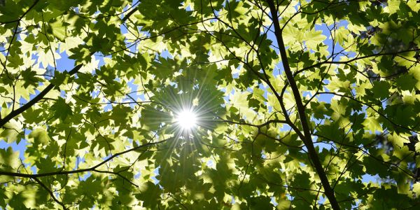
[[[312,143],[311,130],[309,129],[309,123],[307,122],[307,117],[306,117],[306,114],[304,113],[304,105],[302,102],[302,97],[300,97],[300,91],[297,88],[297,84],[295,80],[293,79],[293,73],[290,70],[290,66],[288,64],[286,48],[283,43],[283,37],[281,36],[281,28],[279,24],[279,19],[277,18],[276,6],[274,5],[273,0],[267,0],[267,3],[269,5],[269,10],[272,14],[272,20],[274,23],[274,35],[276,36],[276,41],[277,41],[277,44],[279,45],[281,62],[283,63],[284,72],[286,73],[288,83],[290,85],[290,88],[292,89],[293,96],[295,97],[297,113],[299,115],[300,123],[302,125],[302,130],[304,133],[304,139],[302,139],[302,141],[304,142],[304,145],[307,147],[309,158],[311,158],[311,162],[314,164],[314,167],[319,176],[319,179],[321,179],[322,186],[325,190],[325,195],[328,197],[328,200],[330,200],[332,209],[339,209],[337,199],[335,198],[335,195],[334,195],[334,190],[332,190],[330,186],[328,178],[325,175],[324,169],[321,165],[321,161],[318,158],[318,153],[316,152],[314,144]]]

